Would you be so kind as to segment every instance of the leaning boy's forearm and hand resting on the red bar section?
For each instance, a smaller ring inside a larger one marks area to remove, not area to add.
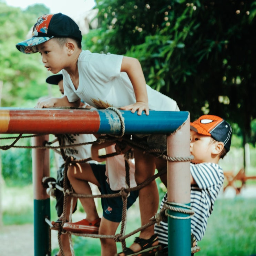
[[[35,105],[35,109],[43,109],[49,107],[79,107],[80,99],[75,102],[69,102],[66,96],[61,98],[49,98],[46,100],[39,101]]]

